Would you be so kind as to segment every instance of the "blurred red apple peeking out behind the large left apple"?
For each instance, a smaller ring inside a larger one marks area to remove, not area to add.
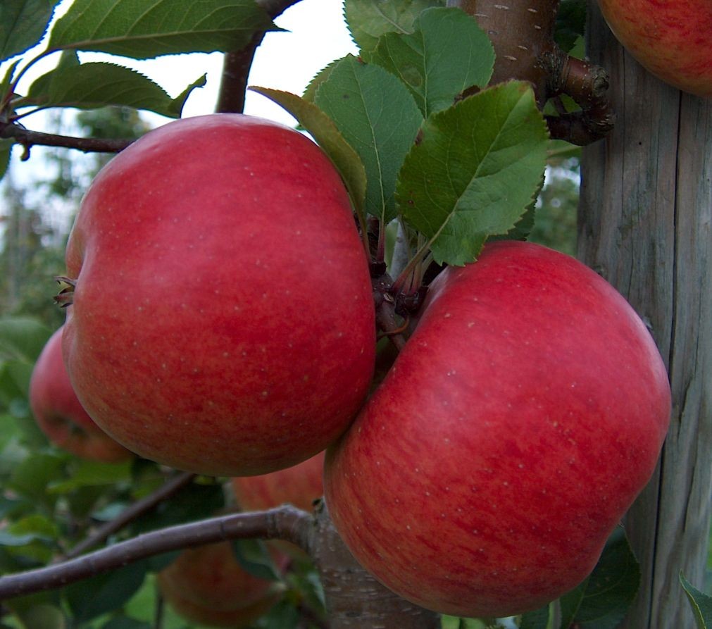
[[[130,459],[133,454],[101,430],[77,399],[62,360],[62,331],[53,333],[32,370],[29,401],[37,425],[78,457],[107,463]]]

